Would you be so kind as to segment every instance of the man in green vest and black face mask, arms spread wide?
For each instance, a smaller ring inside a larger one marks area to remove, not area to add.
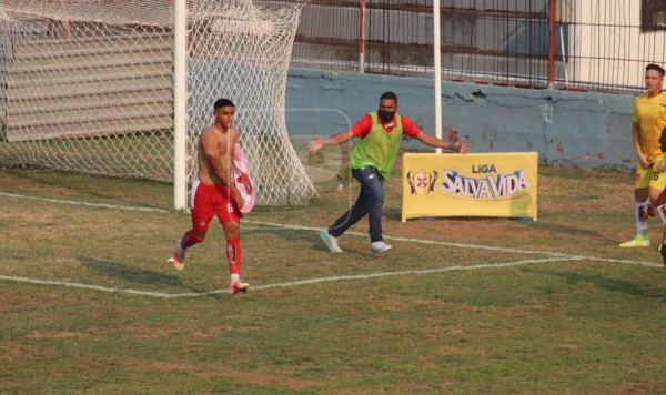
[[[365,214],[370,222],[370,253],[377,254],[391,249],[382,237],[382,207],[384,205],[384,180],[391,175],[403,134],[417,139],[422,143],[453,150],[470,152],[470,145],[456,141],[444,141],[424,133],[407,117],[397,113],[397,95],[385,92],[380,98],[380,109],[365,114],[352,129],[333,134],[327,139],[315,138],[307,144],[310,152],[315,153],[324,145],[343,144],[357,138],[352,151],[352,175],[361,184],[356,202],[347,212],[321,233],[321,239],[331,252],[342,253],[337,244],[347,229],[359,222]]]

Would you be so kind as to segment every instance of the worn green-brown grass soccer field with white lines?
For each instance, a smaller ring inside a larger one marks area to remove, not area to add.
[[[243,219],[234,296],[216,223],[185,271],[167,263],[190,226],[169,184],[0,185],[1,393],[666,392],[658,220],[653,247],[617,247],[628,173],[541,168],[538,221],[406,223],[394,176],[377,256],[365,222],[343,254],[321,243],[356,195],[324,183]]]

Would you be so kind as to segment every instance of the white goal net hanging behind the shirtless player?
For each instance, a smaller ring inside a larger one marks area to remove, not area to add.
[[[302,3],[186,7],[186,95],[174,98],[173,0],[0,2],[0,163],[174,182],[174,100],[184,100],[190,185],[199,133],[229,98],[258,204],[315,196],[285,125]]]

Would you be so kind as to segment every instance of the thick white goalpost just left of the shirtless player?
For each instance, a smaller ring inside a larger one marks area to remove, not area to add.
[[[188,199],[188,0],[175,0],[173,8],[173,207],[184,210]]]

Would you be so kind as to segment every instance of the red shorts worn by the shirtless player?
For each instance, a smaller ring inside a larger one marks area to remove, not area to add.
[[[192,229],[196,233],[205,233],[213,214],[218,214],[221,224],[240,222],[243,216],[233,193],[224,185],[204,184],[196,180],[192,188]]]

